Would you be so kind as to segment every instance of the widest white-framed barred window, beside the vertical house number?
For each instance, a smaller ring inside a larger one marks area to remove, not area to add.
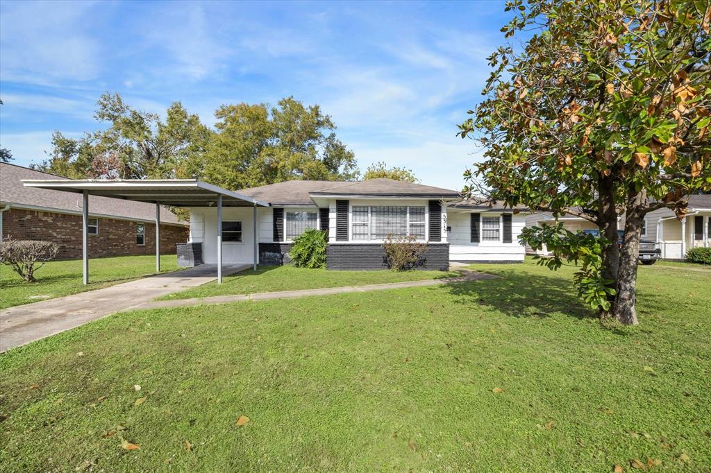
[[[354,240],[384,240],[389,235],[424,240],[424,207],[353,205],[351,218]]]

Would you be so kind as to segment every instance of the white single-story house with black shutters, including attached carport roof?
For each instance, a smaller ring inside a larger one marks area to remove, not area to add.
[[[524,257],[518,244],[524,219],[518,210],[387,178],[290,180],[236,191],[199,180],[34,180],[25,185],[187,208],[190,237],[178,247],[178,259],[186,264],[282,264],[307,228],[328,232],[327,265],[336,270],[386,268],[383,241],[390,234],[412,235],[427,245],[419,266],[424,269],[447,269],[449,261]]]

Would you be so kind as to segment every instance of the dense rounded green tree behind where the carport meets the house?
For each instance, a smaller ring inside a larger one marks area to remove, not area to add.
[[[231,189],[284,180],[353,180],[353,151],[318,105],[288,97],[267,104],[223,105],[213,139],[196,165],[205,180]]]

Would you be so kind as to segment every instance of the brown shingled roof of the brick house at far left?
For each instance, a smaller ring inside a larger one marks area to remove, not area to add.
[[[81,214],[82,196],[71,192],[25,187],[22,180],[70,180],[63,176],[23,168],[14,164],[0,163],[0,203],[11,207],[46,212]],[[89,213],[92,217],[107,217],[141,222],[154,222],[155,205],[132,200],[114,199],[92,195],[89,197]],[[173,212],[161,207],[161,223],[181,224]]]

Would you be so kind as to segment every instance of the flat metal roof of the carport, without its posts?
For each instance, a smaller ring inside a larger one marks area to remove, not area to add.
[[[160,203],[172,207],[215,207],[218,195],[224,207],[269,207],[247,195],[238,194],[197,179],[31,179],[23,180],[26,187],[63,190],[65,192],[88,192],[116,199]]]

